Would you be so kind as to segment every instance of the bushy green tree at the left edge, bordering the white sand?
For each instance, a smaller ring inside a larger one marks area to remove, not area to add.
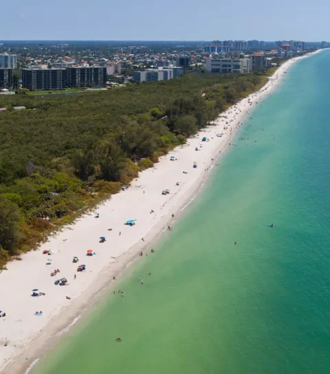
[[[22,239],[19,230],[19,210],[15,203],[0,195],[0,249],[10,254],[17,252],[17,245]]]

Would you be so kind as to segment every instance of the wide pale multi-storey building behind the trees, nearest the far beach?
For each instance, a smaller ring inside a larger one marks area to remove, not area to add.
[[[252,72],[252,58],[239,53],[212,56],[206,59],[206,71],[219,74],[248,74]]]

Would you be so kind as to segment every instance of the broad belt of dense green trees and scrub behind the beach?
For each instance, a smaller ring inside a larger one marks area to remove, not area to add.
[[[266,80],[261,72],[186,74],[92,96],[1,98],[0,265],[118,192]]]

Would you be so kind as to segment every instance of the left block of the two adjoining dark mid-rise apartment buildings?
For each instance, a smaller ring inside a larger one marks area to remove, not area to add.
[[[66,69],[22,69],[22,87],[30,91],[50,91],[67,87]]]

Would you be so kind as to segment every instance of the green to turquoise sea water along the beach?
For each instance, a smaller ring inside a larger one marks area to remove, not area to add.
[[[129,269],[125,296],[33,373],[330,373],[329,72],[330,51],[289,69],[175,230]]]

